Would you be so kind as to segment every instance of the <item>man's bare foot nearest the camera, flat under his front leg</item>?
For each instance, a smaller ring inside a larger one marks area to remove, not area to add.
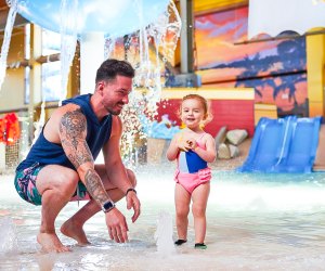
[[[70,251],[67,246],[64,246],[55,233],[39,233],[37,242],[41,245],[44,253],[66,253]]]

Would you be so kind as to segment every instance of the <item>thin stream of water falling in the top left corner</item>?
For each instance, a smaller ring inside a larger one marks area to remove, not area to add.
[[[9,46],[11,40],[11,34],[17,14],[17,0],[8,0],[6,3],[8,5],[10,5],[10,10],[6,17],[4,38],[3,38],[3,43],[1,47],[1,54],[0,54],[0,90],[5,76],[6,57],[8,57]]]

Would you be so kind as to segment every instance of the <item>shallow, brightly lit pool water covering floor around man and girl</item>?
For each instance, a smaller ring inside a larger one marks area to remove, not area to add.
[[[324,270],[325,173],[213,171],[208,249],[193,249],[190,216],[188,242],[166,256],[157,253],[154,235],[160,211],[174,216],[172,178],[171,165],[138,169],[142,215],[134,224],[125,202],[118,203],[127,214],[128,244],[108,240],[103,214],[99,214],[84,227],[93,245],[78,247],[60,235],[73,253],[42,255],[36,242],[40,208],[18,198],[12,176],[1,176],[0,219],[12,219],[17,245],[0,253],[0,270]],[[68,204],[57,228],[77,209],[77,203]],[[0,242],[12,241],[1,231]]]

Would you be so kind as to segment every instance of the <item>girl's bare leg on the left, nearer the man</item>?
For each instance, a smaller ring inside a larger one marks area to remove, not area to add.
[[[179,183],[176,184],[176,189],[174,189],[174,203],[176,203],[176,223],[177,223],[179,240],[186,241],[187,225],[188,225],[187,216],[190,212],[191,195]]]

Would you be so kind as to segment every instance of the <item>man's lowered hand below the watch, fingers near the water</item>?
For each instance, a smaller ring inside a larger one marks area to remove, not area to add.
[[[126,217],[116,207],[105,212],[105,217],[110,240],[117,243],[128,242],[129,228]]]

